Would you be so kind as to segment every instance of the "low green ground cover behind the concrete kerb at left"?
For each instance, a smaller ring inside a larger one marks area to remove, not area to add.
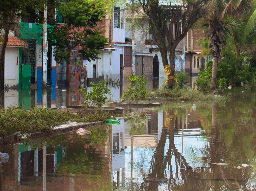
[[[16,130],[21,133],[33,133],[38,131],[48,132],[56,125],[72,122],[95,122],[113,118],[110,113],[69,113],[59,109],[39,108],[21,110],[19,108],[0,109],[0,137],[8,130]]]

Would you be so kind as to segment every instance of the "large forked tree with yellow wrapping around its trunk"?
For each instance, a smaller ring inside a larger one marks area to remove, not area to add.
[[[153,39],[159,48],[167,71],[168,86],[172,88],[176,77],[175,49],[188,30],[206,14],[208,0],[183,0],[180,3],[172,0],[137,0],[136,3],[142,7],[149,18]],[[176,27],[173,27],[175,25]]]

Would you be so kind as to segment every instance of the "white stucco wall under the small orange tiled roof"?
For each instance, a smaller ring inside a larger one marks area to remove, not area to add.
[[[19,83],[19,65],[17,65],[17,57],[19,56],[19,48],[6,47],[5,50],[5,86],[14,86]]]

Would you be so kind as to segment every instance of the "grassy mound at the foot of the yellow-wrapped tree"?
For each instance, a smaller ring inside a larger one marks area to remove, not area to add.
[[[225,101],[229,99],[229,96],[223,95],[221,97],[215,97],[213,93],[203,93],[198,91],[189,91],[187,88],[173,88],[172,90],[167,88],[156,89],[154,94],[149,93],[148,97],[161,97],[176,101]]]

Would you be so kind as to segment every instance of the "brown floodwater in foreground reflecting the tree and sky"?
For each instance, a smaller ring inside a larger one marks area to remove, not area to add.
[[[226,103],[145,110],[88,135],[10,135],[0,146],[9,154],[0,190],[255,190],[255,106],[255,94],[241,93]]]

